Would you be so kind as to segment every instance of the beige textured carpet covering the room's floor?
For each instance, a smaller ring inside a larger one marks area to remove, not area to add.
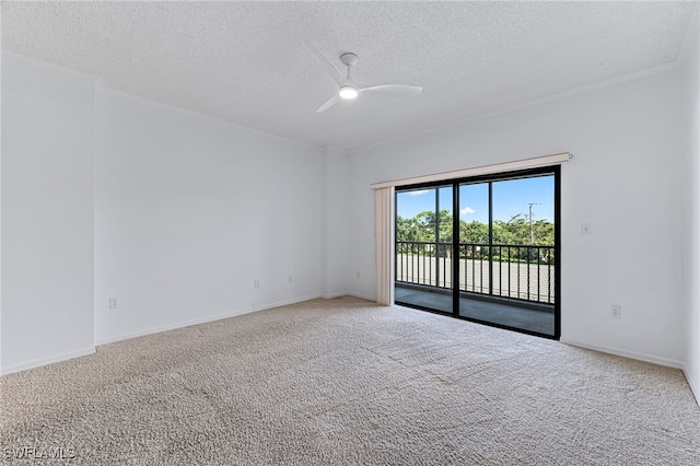
[[[700,465],[680,371],[353,298],[107,345],[0,391],[2,464]]]

